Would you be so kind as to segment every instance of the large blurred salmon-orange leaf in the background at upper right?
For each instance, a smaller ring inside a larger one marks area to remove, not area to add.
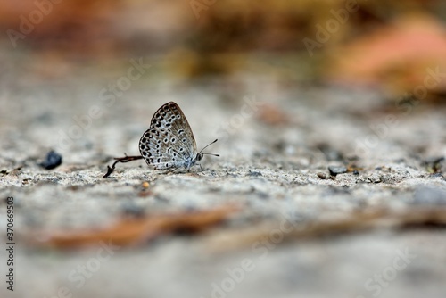
[[[336,52],[329,77],[353,84],[378,84],[395,94],[411,92],[425,86],[428,68],[441,73],[446,70],[445,33],[442,23],[429,15],[400,18]],[[446,90],[444,79],[431,85],[429,92]]]

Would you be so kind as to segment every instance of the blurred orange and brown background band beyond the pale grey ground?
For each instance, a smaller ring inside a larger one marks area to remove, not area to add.
[[[446,70],[445,19],[441,0],[0,3],[4,54],[23,54],[25,72],[39,78],[151,57],[157,78],[251,73],[389,96],[423,84],[427,68]],[[445,84],[442,77],[425,99],[441,101]]]

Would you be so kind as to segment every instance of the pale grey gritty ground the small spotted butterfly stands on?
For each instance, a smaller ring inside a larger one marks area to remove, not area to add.
[[[2,297],[444,297],[444,225],[296,235],[361,212],[446,207],[445,163],[435,161],[446,155],[444,107],[395,107],[370,90],[267,74],[185,82],[146,59],[152,67],[126,80],[128,61],[54,73],[2,57],[0,222],[5,230],[12,196],[18,237],[14,291],[2,281]],[[208,152],[221,156],[190,173],[135,161],[102,178],[112,157],[138,153],[153,112],[169,101],[199,148],[219,138]],[[63,162],[45,170],[38,163],[52,149]],[[349,165],[358,172],[330,178],[329,166]],[[228,203],[240,211],[219,227],[132,248],[67,252],[21,239],[107,227],[123,213]],[[5,249],[0,258],[4,277]]]

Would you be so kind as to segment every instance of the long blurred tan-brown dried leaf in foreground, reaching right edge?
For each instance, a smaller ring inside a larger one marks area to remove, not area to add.
[[[415,207],[406,211],[374,210],[353,212],[350,215],[336,213],[334,217],[322,217],[318,220],[295,224],[286,223],[283,231],[284,241],[312,238],[329,235],[345,235],[376,228],[413,228],[424,225],[439,225],[446,227],[446,208],[444,207]],[[283,228],[275,223],[264,223],[252,228],[237,228],[223,230],[211,235],[206,240],[206,246],[212,252],[249,247],[256,242],[265,241],[272,236],[271,231]]]

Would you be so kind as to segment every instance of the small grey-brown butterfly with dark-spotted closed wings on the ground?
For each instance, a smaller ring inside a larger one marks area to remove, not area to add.
[[[213,141],[214,144],[217,140]],[[209,144],[209,145],[211,145]],[[202,148],[202,151],[209,145]],[[156,170],[189,170],[204,154],[197,152],[194,134],[177,103],[169,102],[153,114],[150,128],[139,140],[139,152]],[[201,167],[201,166],[200,166]]]

